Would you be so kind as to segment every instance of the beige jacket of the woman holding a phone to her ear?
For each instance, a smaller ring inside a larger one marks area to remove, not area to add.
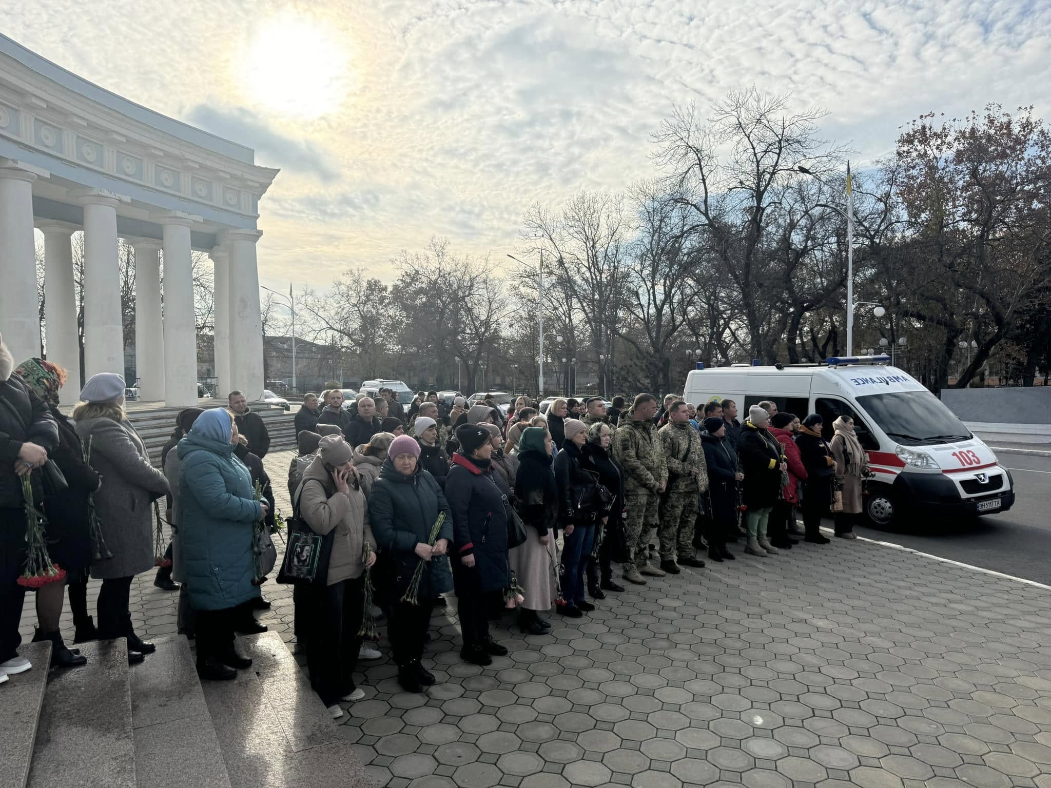
[[[349,483],[349,482],[348,482]],[[350,485],[349,495],[336,492],[335,482],[321,457],[315,457],[300,483],[300,515],[311,531],[328,534],[335,528],[332,556],[329,558],[328,584],[359,578],[365,572],[362,560],[365,542],[375,551],[376,539],[369,527],[369,507],[365,493]]]

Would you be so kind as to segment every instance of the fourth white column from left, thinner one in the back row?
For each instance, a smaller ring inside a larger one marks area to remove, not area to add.
[[[139,398],[164,400],[164,323],[161,312],[161,243],[128,239],[135,249],[135,367]]]

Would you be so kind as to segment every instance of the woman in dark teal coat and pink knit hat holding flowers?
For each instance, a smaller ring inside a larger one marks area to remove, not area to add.
[[[408,435],[390,444],[369,496],[369,522],[382,557],[377,575],[386,578],[391,600],[387,631],[398,683],[418,692],[435,682],[419,659],[433,600],[453,587],[446,557],[453,517],[438,482],[419,466],[419,444]]]

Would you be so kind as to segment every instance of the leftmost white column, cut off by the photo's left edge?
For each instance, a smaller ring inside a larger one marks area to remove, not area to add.
[[[33,182],[37,175],[0,159],[0,335],[15,364],[40,355]]]

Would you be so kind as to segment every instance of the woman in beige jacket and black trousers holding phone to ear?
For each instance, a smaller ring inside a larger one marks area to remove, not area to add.
[[[311,531],[322,536],[335,532],[326,580],[304,587],[300,608],[307,618],[300,627],[307,641],[310,685],[333,720],[343,717],[339,701],[365,698],[354,686],[354,666],[362,647],[365,571],[376,562],[368,501],[352,459],[353,450],[342,435],[326,435],[297,491],[300,515]]]

